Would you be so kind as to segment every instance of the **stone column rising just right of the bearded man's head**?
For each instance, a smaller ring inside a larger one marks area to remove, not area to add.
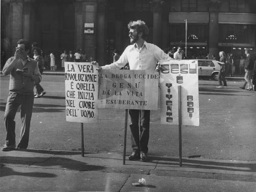
[[[163,4],[163,0],[153,0],[151,2],[151,10],[153,11],[153,43],[159,47],[162,46]]]

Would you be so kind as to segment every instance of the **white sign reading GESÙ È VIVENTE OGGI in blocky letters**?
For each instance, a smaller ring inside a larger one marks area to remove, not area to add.
[[[197,60],[161,60],[161,124],[179,124],[178,85],[181,88],[181,122],[199,125]]]

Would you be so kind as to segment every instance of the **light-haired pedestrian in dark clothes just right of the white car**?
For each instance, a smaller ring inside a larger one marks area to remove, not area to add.
[[[226,65],[226,54],[224,53],[224,51],[220,51],[219,52],[219,56],[220,56],[220,60],[217,61],[217,63],[221,66],[220,71],[218,73],[218,86],[217,88],[223,88],[222,86],[222,81],[223,81],[223,85],[227,86],[227,82],[225,79],[225,71],[228,71],[229,69],[227,68],[227,70],[225,70],[225,65]]]

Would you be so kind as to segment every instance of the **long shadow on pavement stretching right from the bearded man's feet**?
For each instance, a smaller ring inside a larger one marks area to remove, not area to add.
[[[165,161],[158,162],[157,164],[166,165],[179,165],[179,159],[177,158],[164,158],[164,157],[150,157],[151,161]],[[166,161],[172,161],[170,163]],[[176,163],[177,162],[177,163]],[[251,163],[227,163],[216,161],[200,161],[195,159],[182,159],[183,167],[193,167],[198,169],[220,169],[229,171],[242,171],[242,172],[256,172],[256,164]]]

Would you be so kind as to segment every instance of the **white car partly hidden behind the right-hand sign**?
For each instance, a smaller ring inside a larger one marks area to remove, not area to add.
[[[218,72],[220,65],[216,60],[197,59],[198,60],[198,76],[211,76],[215,81],[218,80]]]

